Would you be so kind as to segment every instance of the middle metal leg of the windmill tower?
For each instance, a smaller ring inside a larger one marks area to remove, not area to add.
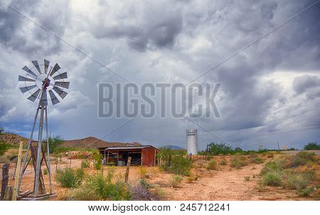
[[[38,134],[38,149],[37,149],[37,163],[36,163],[36,178],[35,178],[35,186],[34,186],[34,196],[38,195],[39,184],[41,183],[41,179],[39,174],[41,173],[41,147],[42,147],[42,132],[43,132],[43,115],[44,115],[44,106],[41,105],[40,112],[40,124],[39,124],[39,134]],[[40,183],[39,183],[40,182]]]

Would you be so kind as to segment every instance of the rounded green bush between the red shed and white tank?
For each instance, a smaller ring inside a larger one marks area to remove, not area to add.
[[[168,172],[173,174],[189,175],[192,166],[191,159],[183,156],[174,156],[171,159],[171,164]]]

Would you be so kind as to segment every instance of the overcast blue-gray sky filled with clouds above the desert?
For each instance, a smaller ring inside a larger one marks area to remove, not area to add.
[[[129,118],[97,118],[97,84],[125,83],[107,68],[137,84],[188,83],[315,1],[0,0],[1,126],[30,135],[37,105],[18,89],[18,75],[46,58],[71,82],[65,100],[48,108],[51,135],[66,140],[186,147],[186,128],[197,128],[201,149],[220,142],[212,134],[243,149],[320,142],[320,3],[197,80],[221,83],[220,118],[196,119],[201,127],[170,116],[122,127]]]

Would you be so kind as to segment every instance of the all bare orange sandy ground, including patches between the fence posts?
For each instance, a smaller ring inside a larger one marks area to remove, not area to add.
[[[215,159],[230,159],[230,157],[215,157]],[[265,158],[266,160],[269,158]],[[271,158],[270,158],[271,159]],[[80,167],[81,160],[73,160],[71,167]],[[63,164],[58,164],[58,169],[68,167],[68,159]],[[53,190],[58,194],[55,200],[64,200],[68,196],[70,189],[60,187],[55,182],[55,164],[51,164],[53,169]],[[173,174],[160,172],[158,167],[147,167],[150,178],[146,179],[150,184],[161,187],[164,191],[164,200],[308,200],[297,196],[296,192],[283,189],[281,187],[265,187],[262,191],[258,189],[258,180],[263,164],[249,163],[241,169],[230,168],[218,165],[218,170],[208,170],[206,168],[193,169],[192,174],[197,174],[199,178],[188,183],[183,179],[180,187],[171,187],[171,178]],[[115,167],[115,179],[123,180],[126,167]],[[97,170],[91,168],[85,169],[88,174],[93,174]],[[11,164],[10,172],[14,172],[14,164]],[[101,172],[101,171],[100,171]],[[28,168],[23,177],[21,191],[33,189],[33,169]],[[107,168],[104,169],[107,174]],[[245,177],[250,176],[250,181]],[[48,174],[44,176],[46,189],[49,191]],[[129,174],[129,183],[137,184],[140,179],[140,167],[131,167]],[[12,184],[13,180],[9,180]],[[312,200],[312,199],[309,199]]]

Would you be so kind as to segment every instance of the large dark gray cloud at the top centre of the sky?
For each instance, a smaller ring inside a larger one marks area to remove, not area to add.
[[[127,24],[122,20],[137,19],[136,13],[124,13],[117,17],[115,25],[99,24],[93,31],[97,38],[126,38],[128,45],[137,51],[154,48],[172,48],[182,29],[181,11],[168,4],[146,4],[140,11],[141,20]]]

